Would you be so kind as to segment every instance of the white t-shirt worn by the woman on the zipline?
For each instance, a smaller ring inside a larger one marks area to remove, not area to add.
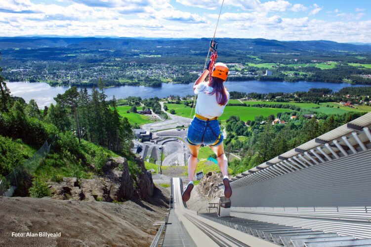
[[[227,91],[227,104],[224,106],[219,105],[216,102],[216,92],[211,93],[213,88],[208,86],[208,82],[201,82],[196,85],[195,94],[198,94],[197,103],[196,103],[196,113],[205,118],[212,119],[215,117],[220,117],[223,114],[224,107],[228,104],[229,92]]]

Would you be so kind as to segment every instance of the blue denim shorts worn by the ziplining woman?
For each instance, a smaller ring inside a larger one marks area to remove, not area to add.
[[[188,127],[187,143],[193,146],[200,144],[218,146],[223,142],[223,134],[221,132],[217,120],[210,120],[206,123],[205,120],[193,118],[192,123]]]

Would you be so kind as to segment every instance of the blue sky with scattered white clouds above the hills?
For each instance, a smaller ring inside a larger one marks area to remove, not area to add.
[[[0,36],[212,37],[222,0],[1,0]],[[371,42],[371,0],[224,0],[216,37]]]

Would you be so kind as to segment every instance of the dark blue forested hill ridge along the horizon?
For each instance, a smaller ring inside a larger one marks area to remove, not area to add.
[[[67,46],[71,49],[91,48],[122,48],[143,49],[179,47],[195,51],[205,51],[210,39],[150,39],[150,38],[64,38],[64,37],[0,37],[0,50],[26,49],[41,47]],[[255,51],[255,52],[336,52],[357,51],[370,52],[369,44],[338,43],[334,41],[276,41],[265,39],[217,39],[219,48],[230,51]]]

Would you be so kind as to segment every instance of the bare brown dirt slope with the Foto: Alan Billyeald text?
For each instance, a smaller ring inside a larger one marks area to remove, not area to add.
[[[0,246],[149,246],[157,233],[153,223],[164,220],[168,197],[169,189],[161,186],[147,202],[122,204],[0,197]],[[26,237],[28,232],[61,236]]]

